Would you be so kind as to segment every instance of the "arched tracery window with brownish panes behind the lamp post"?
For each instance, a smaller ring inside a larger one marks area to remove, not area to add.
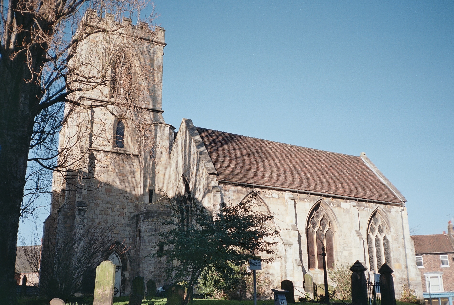
[[[322,238],[325,235],[325,238]],[[326,267],[332,268],[334,264],[334,233],[331,220],[325,209],[319,204],[312,210],[307,223],[307,255],[309,268],[322,269],[323,258],[321,246],[326,249]]]

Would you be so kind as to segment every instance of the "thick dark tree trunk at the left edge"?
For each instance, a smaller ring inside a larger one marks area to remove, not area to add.
[[[0,59],[0,295],[8,304],[16,302],[14,273],[20,206],[34,111],[41,95],[39,84],[27,82],[30,79],[23,57],[15,62]]]

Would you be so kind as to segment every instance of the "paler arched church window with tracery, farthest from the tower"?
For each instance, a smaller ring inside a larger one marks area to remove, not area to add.
[[[371,271],[378,271],[384,263],[391,264],[390,229],[379,213],[375,213],[367,226],[367,248]]]

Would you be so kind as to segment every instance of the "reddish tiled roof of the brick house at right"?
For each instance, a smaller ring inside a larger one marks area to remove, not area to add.
[[[445,253],[454,252],[454,247],[447,234],[413,235],[415,253]]]

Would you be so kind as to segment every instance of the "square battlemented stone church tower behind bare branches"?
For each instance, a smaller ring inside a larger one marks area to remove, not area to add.
[[[109,14],[105,21],[115,22]],[[123,18],[123,25],[130,22]],[[139,26],[133,29],[140,31]],[[142,44],[135,50],[140,52],[139,60],[146,63],[152,78],[142,96],[145,106],[140,114],[133,114],[141,115],[146,122],[141,127],[146,128],[147,135],[138,135],[137,125],[124,118],[126,103],[107,105],[115,99],[117,83],[113,88],[74,94],[73,100],[82,106],[65,105],[67,120],[60,131],[60,150],[68,150],[60,156],[61,162],[77,170],[64,178],[54,175],[51,211],[44,222],[44,248],[50,249],[55,238],[72,238],[89,227],[112,226],[111,245],[105,249],[102,260],[109,259],[121,266],[116,271],[115,296],[129,295],[131,280],[138,275],[146,280],[153,278],[160,285],[164,281],[162,266],[145,259],[154,250],[150,238],[158,230],[149,221],[150,215],[159,217],[161,213],[150,212],[148,203],[156,200],[156,185],[163,185],[175,130],[163,119],[164,33],[157,26],[153,35],[135,41]],[[104,50],[107,47],[102,46],[107,43],[116,46],[106,42],[109,39],[98,35],[85,41],[79,48],[79,60],[99,64],[99,60],[93,60],[91,50]],[[124,56],[119,56],[123,71],[124,61]],[[110,71],[112,75],[114,72]],[[112,78],[114,82],[116,79]],[[153,141],[153,148],[141,145],[147,136]],[[89,287],[94,285],[93,276],[86,279]]]

